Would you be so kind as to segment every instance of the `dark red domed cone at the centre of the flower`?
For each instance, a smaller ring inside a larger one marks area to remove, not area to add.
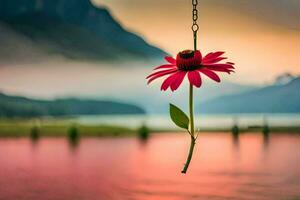
[[[177,68],[182,71],[192,71],[201,67],[200,51],[184,50],[176,58]]]

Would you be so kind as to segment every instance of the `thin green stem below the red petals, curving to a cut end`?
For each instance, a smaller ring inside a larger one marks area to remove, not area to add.
[[[186,163],[183,167],[181,173],[185,174],[189,168],[190,162],[192,160],[194,147],[196,144],[195,129],[194,129],[194,103],[193,103],[193,85],[190,84],[190,94],[189,94],[189,108],[190,108],[190,134],[191,134],[191,145],[189,150],[189,155],[187,157]]]

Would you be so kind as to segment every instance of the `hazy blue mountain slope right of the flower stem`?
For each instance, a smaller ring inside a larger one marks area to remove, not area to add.
[[[284,85],[227,95],[201,105],[207,113],[298,113],[300,112],[300,77]]]

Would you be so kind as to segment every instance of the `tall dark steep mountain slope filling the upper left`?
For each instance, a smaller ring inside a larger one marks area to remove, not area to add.
[[[11,41],[6,42],[10,46],[0,47],[3,54],[18,52],[21,47],[25,58],[28,48],[39,52],[38,56],[72,59],[153,59],[166,55],[125,30],[106,8],[95,7],[89,0],[1,0],[0,22],[0,41]],[[35,60],[34,55],[29,56]]]

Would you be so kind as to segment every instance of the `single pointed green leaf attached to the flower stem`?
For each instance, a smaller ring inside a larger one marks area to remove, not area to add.
[[[170,116],[172,121],[180,128],[189,128],[189,118],[186,114],[180,110],[177,106],[170,104]]]

